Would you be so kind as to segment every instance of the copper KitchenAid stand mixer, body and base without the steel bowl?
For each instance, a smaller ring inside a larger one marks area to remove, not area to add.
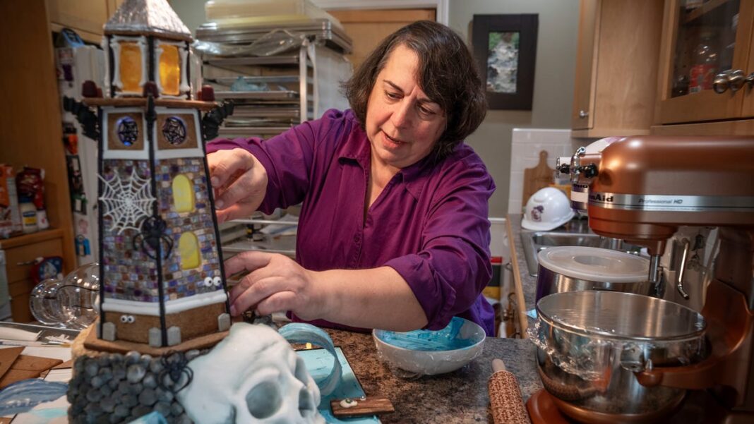
[[[648,249],[651,281],[661,278],[660,257],[680,226],[719,227],[719,255],[701,311],[710,355],[634,374],[643,386],[689,389],[672,416],[597,416],[543,389],[527,404],[532,421],[569,422],[560,415],[565,412],[585,422],[754,422],[754,138],[627,137],[599,154],[577,151],[561,171],[589,186],[595,233]],[[685,294],[681,282],[677,289]]]

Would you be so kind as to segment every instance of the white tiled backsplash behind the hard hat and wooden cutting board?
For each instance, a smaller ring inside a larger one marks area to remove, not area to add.
[[[572,139],[571,130],[514,128],[510,151],[510,188],[508,213],[523,210],[523,171],[539,163],[539,152],[547,151],[547,166],[555,168],[561,156],[572,156],[576,148],[588,145],[592,139]]]

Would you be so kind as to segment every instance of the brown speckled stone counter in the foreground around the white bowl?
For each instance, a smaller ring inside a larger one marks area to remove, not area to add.
[[[385,396],[393,403],[395,412],[380,416],[382,422],[492,422],[487,381],[494,358],[501,358],[516,376],[525,400],[542,387],[535,368],[535,347],[529,340],[488,337],[482,355],[464,368],[403,379],[379,360],[371,334],[328,332],[336,346],[341,346],[366,395]]]

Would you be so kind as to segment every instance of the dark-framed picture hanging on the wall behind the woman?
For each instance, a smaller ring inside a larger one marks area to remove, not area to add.
[[[471,41],[490,109],[532,110],[537,14],[474,15]]]

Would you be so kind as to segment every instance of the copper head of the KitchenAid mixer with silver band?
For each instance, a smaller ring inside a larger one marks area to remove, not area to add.
[[[589,185],[592,230],[652,255],[681,225],[754,227],[751,136],[626,137],[575,155],[569,171]]]

